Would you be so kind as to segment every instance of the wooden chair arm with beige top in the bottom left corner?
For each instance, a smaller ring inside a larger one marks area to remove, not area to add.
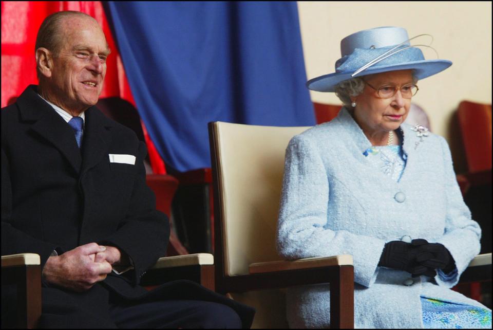
[[[41,317],[41,262],[39,254],[2,255],[2,286],[17,287],[17,325],[35,328]]]

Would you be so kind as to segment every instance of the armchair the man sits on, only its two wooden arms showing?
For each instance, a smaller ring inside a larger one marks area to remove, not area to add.
[[[160,258],[141,281],[152,289],[171,280],[187,279],[214,290],[214,257],[208,253]],[[2,255],[2,286],[17,285],[17,325],[35,328],[41,316],[40,256],[35,253]]]

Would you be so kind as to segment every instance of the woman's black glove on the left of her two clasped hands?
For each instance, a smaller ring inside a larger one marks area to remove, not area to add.
[[[423,264],[427,260],[432,260],[434,256],[426,249],[421,250],[424,245],[429,245],[429,243],[422,239],[412,240],[411,243],[402,241],[388,242],[385,244],[378,266],[404,270],[411,273],[412,277],[421,275],[434,277],[437,274],[434,267],[428,267]]]

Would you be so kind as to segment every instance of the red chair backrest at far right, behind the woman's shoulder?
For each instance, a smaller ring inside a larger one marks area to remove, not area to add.
[[[457,112],[469,172],[491,170],[491,104],[462,101]]]

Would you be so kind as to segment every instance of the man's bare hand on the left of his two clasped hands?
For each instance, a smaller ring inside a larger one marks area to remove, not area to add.
[[[62,255],[50,256],[43,267],[43,279],[48,284],[73,291],[86,291],[111,272],[108,261],[96,262],[96,255],[105,250],[104,246],[89,243]]]

